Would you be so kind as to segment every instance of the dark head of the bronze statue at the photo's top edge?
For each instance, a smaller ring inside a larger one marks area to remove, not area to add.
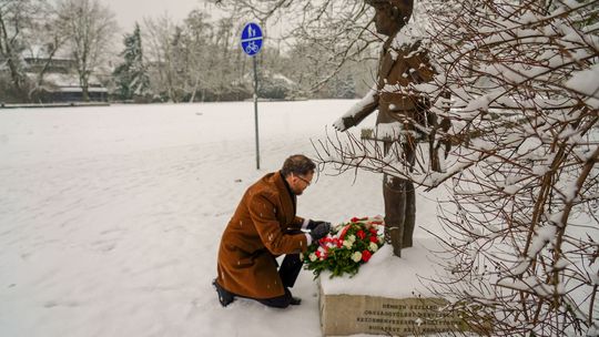
[[[412,17],[414,0],[365,0],[375,8],[375,25],[378,33],[393,35],[406,25]]]

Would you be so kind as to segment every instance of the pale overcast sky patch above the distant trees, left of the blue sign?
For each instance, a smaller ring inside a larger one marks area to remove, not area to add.
[[[109,6],[116,14],[116,21],[125,32],[133,29],[135,21],[142,23],[143,18],[158,18],[165,12],[174,20],[181,21],[196,8],[215,11],[214,6],[206,4],[203,0],[100,0],[100,2]]]

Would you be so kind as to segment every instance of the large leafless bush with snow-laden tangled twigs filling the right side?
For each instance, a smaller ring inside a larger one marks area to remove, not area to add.
[[[435,112],[453,121],[439,136],[459,144],[444,176],[457,211],[441,217],[451,261],[439,293],[461,310],[483,305],[471,314],[491,314],[498,336],[592,335],[596,1],[451,4],[429,6],[434,86],[451,93],[450,111],[437,100]]]

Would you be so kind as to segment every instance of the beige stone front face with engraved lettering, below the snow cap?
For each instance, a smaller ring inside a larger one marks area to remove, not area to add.
[[[440,310],[446,303],[441,298],[326,295],[321,288],[321,325],[324,336],[419,336],[464,329],[459,318]]]

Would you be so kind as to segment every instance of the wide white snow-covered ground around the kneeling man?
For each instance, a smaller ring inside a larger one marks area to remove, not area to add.
[[[0,336],[319,336],[309,272],[292,289],[302,305],[287,309],[222,308],[211,280],[244,190],[291,154],[313,156],[309,140],[354,103],[260,103],[261,170],[251,102],[1,110]],[[379,175],[327,173],[298,198],[298,215],[383,214]],[[433,197],[418,196],[428,228]],[[373,267],[386,259],[377,254]],[[405,261],[420,257],[408,249]],[[358,276],[389,292],[394,275]]]

